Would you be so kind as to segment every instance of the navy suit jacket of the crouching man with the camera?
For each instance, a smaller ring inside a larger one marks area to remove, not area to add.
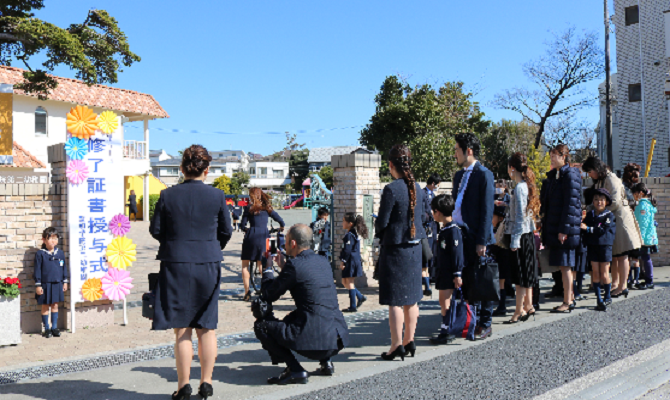
[[[279,300],[291,292],[296,309],[282,321],[268,321],[270,335],[291,350],[335,350],[337,339],[349,345],[349,330],[337,302],[333,270],[328,260],[304,250],[286,261],[275,278],[271,269],[263,273],[261,298]]]

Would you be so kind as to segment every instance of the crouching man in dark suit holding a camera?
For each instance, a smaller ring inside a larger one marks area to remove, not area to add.
[[[295,301],[296,310],[283,320],[271,315],[254,324],[254,332],[273,364],[284,362],[287,368],[270,384],[307,383],[307,372],[291,351],[312,360],[319,360],[317,373],[332,375],[335,367],[330,358],[349,345],[349,331],[337,302],[333,272],[325,257],[315,254],[312,230],[303,224],[289,229],[286,254],[275,261],[281,269],[275,278],[271,268],[263,273],[261,299],[272,303],[287,291]],[[270,313],[271,314],[271,313]]]

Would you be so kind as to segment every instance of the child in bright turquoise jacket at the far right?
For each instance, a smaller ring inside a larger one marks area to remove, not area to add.
[[[654,218],[658,210],[656,209],[656,199],[647,189],[647,185],[640,182],[632,188],[633,196],[637,205],[635,206],[635,219],[640,226],[642,233],[642,248],[640,249],[640,260],[644,267],[644,283],[639,283],[639,275],[635,277],[635,287],[640,290],[654,288],[654,264],[651,262],[651,255],[658,252],[658,234],[656,233],[656,223]],[[639,269],[638,269],[639,274]]]

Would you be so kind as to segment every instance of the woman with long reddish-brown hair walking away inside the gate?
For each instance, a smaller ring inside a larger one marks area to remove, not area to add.
[[[249,262],[256,261],[260,272],[261,259],[265,256],[266,241],[269,236],[268,218],[279,222],[280,230],[284,229],[284,220],[272,208],[270,197],[260,188],[249,189],[249,205],[244,207],[240,228],[245,232],[242,241],[242,280],[244,281],[244,301],[251,300],[249,290]],[[247,222],[249,228],[247,229]]]

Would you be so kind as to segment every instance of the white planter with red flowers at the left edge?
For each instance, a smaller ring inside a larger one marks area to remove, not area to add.
[[[0,279],[0,346],[21,343],[19,278]]]

